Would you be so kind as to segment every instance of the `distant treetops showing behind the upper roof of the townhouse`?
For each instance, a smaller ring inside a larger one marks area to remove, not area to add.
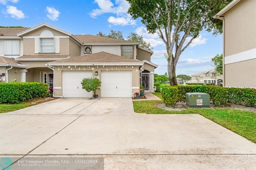
[[[108,38],[115,38],[119,40],[124,40],[123,32],[122,31],[113,31],[112,29],[110,30],[110,33],[105,34],[99,31],[96,35],[101,36],[101,37],[108,37]],[[152,50],[153,47],[151,46],[150,42],[146,42],[143,40],[143,37],[137,33],[131,32],[127,36],[126,40],[128,41],[135,41],[139,42],[139,46],[143,48],[147,48],[149,50]]]

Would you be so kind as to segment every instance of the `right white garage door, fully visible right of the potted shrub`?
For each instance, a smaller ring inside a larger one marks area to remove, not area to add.
[[[101,97],[132,97],[132,71],[101,71]]]

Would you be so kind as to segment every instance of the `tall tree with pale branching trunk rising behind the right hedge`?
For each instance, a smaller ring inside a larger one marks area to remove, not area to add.
[[[212,18],[232,0],[127,0],[132,18],[141,17],[149,33],[158,33],[166,46],[168,76],[177,85],[181,53],[201,30],[222,33],[222,21]]]

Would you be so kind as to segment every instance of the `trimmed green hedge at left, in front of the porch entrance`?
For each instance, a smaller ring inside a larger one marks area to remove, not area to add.
[[[0,103],[20,103],[47,95],[48,84],[37,82],[0,83]]]

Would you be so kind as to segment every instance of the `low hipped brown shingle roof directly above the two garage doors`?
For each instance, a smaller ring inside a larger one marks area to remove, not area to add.
[[[126,58],[106,52],[99,52],[78,57],[71,57],[64,60],[53,61],[49,63],[143,63],[140,60]]]

